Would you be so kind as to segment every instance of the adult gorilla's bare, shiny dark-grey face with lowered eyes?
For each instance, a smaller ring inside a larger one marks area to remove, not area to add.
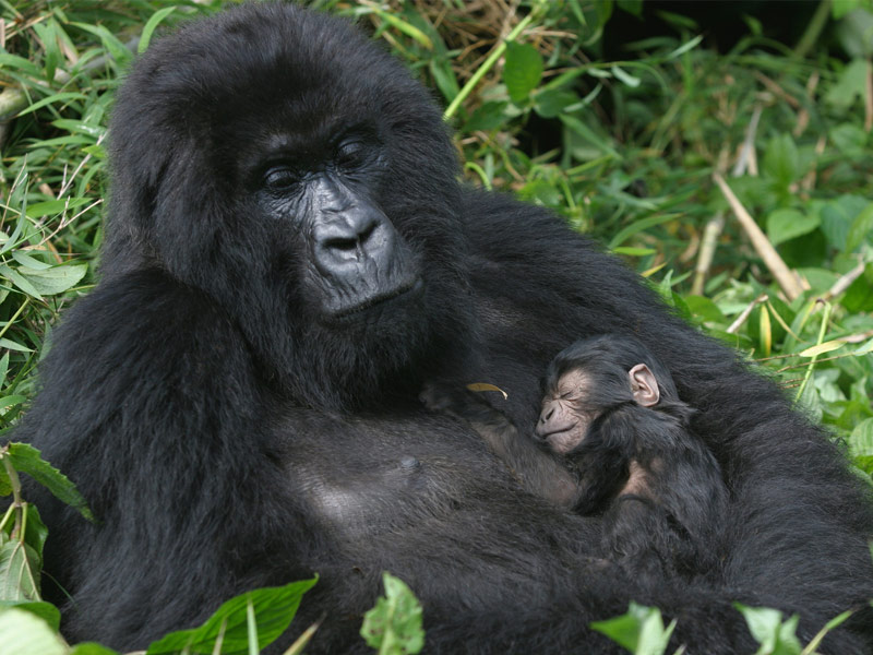
[[[420,257],[381,206],[390,153],[373,126],[295,147],[273,136],[247,171],[262,221],[292,235],[302,301],[325,326],[392,320],[424,289]]]

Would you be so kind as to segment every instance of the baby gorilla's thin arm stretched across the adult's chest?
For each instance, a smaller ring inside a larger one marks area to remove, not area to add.
[[[571,509],[578,501],[578,479],[563,461],[543,451],[501,412],[467,390],[426,386],[421,401],[434,412],[444,412],[469,426],[488,443],[522,486],[540,498]]]

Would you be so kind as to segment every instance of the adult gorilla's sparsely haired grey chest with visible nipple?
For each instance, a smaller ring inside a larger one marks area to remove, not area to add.
[[[444,520],[514,485],[477,434],[423,412],[344,418],[295,410],[279,424],[276,444],[290,492],[347,538]]]

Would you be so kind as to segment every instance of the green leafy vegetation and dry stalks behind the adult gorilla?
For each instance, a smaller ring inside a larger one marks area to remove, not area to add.
[[[107,118],[222,0],[0,0],[0,430],[99,275]],[[873,474],[873,2],[313,0],[433,90],[473,184],[601,239]]]

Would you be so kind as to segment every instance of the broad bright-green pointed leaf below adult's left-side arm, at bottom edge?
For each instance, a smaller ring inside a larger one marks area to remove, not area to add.
[[[223,654],[248,655],[250,604],[258,626],[256,647],[265,648],[285,632],[297,614],[303,594],[312,588],[315,582],[318,577],[236,596],[223,604],[200,628],[171,632],[152,642],[146,655],[169,655],[181,651],[207,655],[213,652],[215,641],[222,632],[224,632]]]

